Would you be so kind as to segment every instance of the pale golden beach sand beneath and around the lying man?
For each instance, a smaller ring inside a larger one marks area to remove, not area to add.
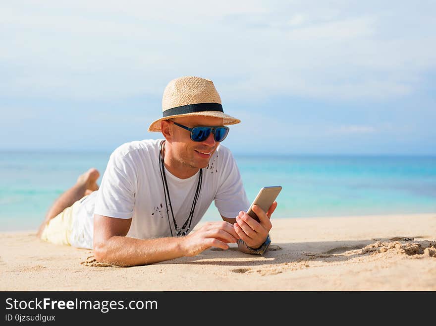
[[[0,290],[436,290],[436,213],[275,219],[263,257],[209,249],[135,267],[0,233]]]

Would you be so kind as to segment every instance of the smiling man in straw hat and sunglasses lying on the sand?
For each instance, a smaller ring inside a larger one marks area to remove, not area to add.
[[[49,210],[41,239],[94,249],[97,261],[142,265],[195,256],[228,243],[263,254],[271,240],[270,217],[255,206],[260,223],[246,214],[249,202],[236,162],[220,144],[240,122],[224,114],[211,80],[181,77],[163,93],[163,117],[149,131],[164,139],[132,141],[110,155],[100,188],[90,169]],[[85,196],[84,196],[85,195]],[[212,201],[223,222],[190,232]]]

